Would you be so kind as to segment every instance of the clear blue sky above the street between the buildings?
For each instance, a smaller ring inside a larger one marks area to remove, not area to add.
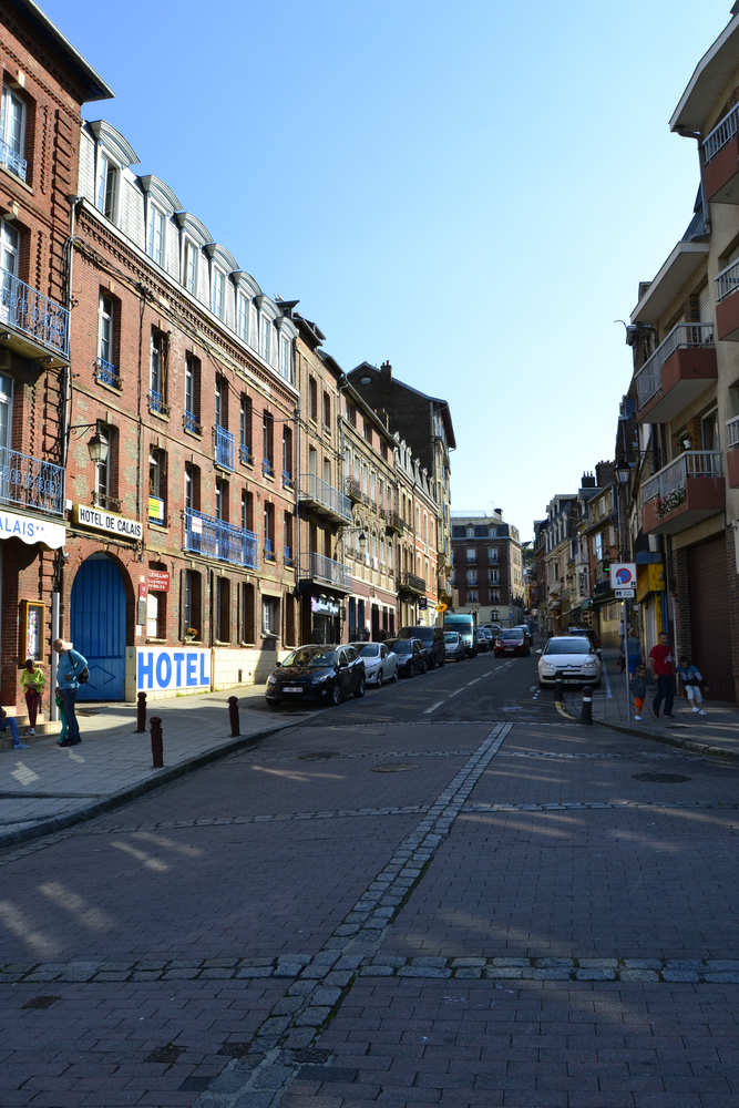
[[[528,537],[613,455],[614,320],[690,219],[696,145],[668,120],[730,0],[40,2],[137,172],[345,369],[389,359],[449,401],[453,510]]]

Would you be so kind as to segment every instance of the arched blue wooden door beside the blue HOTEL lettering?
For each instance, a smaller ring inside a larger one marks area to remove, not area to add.
[[[72,585],[71,636],[84,655],[90,680],[78,700],[123,700],[125,693],[125,588],[106,554],[82,563]]]

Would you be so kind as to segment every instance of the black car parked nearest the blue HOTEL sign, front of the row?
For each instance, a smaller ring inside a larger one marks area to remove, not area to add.
[[[267,702],[274,706],[322,700],[341,704],[353,693],[365,696],[365,663],[352,646],[299,646],[267,679]]]

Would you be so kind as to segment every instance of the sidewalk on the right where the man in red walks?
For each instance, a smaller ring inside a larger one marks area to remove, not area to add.
[[[700,753],[720,755],[739,760],[739,709],[719,700],[704,701],[705,716],[695,715],[681,693],[675,697],[673,719],[651,714],[655,686],[647,686],[644,719],[634,719],[634,706],[627,704],[626,678],[618,673],[618,652],[603,652],[603,685],[593,691],[593,720],[618,731],[642,735],[658,742],[685,747]],[[565,710],[579,718],[583,702],[581,689],[568,689],[564,695]],[[630,711],[629,711],[630,708]]]

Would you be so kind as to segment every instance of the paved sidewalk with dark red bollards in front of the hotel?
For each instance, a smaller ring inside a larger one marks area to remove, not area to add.
[[[277,716],[264,691],[264,685],[252,685],[154,701],[143,735],[135,733],[135,705],[83,704],[79,746],[62,748],[50,735],[25,750],[0,750],[0,847],[90,819],[306,718],[304,711]],[[230,736],[229,696],[238,697],[237,738]],[[162,719],[163,769],[152,768],[152,716]]]

